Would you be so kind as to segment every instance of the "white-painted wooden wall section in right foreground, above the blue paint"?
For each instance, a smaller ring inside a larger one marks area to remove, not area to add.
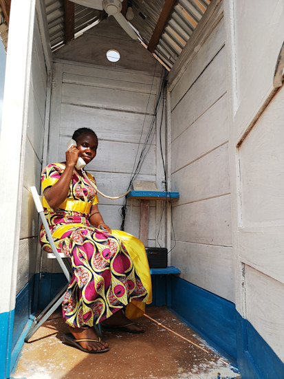
[[[284,88],[274,88],[284,3],[224,8],[235,303],[284,362]]]

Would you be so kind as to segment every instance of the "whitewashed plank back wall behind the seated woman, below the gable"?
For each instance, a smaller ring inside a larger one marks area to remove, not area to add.
[[[135,159],[137,163],[153,119],[159,85],[160,76],[149,73],[55,62],[47,162],[65,161],[69,138],[76,129],[89,127],[96,131],[99,143],[96,158],[86,170],[96,177],[98,188],[106,195],[127,191]],[[137,180],[156,180],[162,188],[161,171],[157,173],[161,158],[156,140],[153,132]],[[99,196],[99,201],[106,224],[119,229],[123,198],[109,200]],[[150,205],[149,246],[155,246],[156,204]],[[125,231],[138,237],[139,222],[140,201],[129,200]]]

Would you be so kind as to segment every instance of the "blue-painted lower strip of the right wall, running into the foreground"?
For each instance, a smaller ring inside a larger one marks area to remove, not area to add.
[[[173,275],[171,296],[175,314],[237,362],[242,379],[284,378],[284,363],[233,303]]]

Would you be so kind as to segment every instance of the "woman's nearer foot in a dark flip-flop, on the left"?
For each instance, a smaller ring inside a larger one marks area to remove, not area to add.
[[[80,341],[78,342],[83,349],[88,351],[102,351],[109,347],[109,344],[99,341],[100,338],[96,335],[94,329],[89,327],[87,329],[80,329],[77,327],[69,327],[69,332],[72,333],[76,340],[94,340],[94,341]],[[98,341],[98,342],[95,342]]]

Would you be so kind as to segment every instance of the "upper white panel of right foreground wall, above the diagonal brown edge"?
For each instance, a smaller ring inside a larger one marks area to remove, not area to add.
[[[234,136],[241,138],[273,94],[274,70],[283,44],[284,8],[278,0],[234,1],[237,104]],[[269,33],[263,25],[270,25]],[[259,64],[261,62],[261,64]]]

